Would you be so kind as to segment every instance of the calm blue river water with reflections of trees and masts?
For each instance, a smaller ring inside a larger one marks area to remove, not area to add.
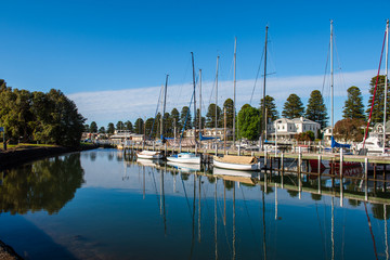
[[[388,193],[368,183],[365,203],[359,180],[194,171],[114,150],[0,177],[0,239],[26,259],[389,259]]]

